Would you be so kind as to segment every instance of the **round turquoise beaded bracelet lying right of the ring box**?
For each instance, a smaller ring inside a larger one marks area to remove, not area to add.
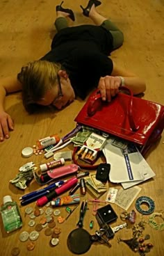
[[[149,206],[148,210],[144,210],[140,207],[143,202],[145,202]],[[151,198],[149,198],[148,196],[140,196],[140,198],[138,198],[136,200],[136,209],[141,214],[151,214],[155,209],[154,201]]]

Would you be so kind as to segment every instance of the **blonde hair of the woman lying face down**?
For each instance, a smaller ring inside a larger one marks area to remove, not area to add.
[[[49,61],[33,61],[22,67],[17,79],[22,83],[23,104],[29,113],[35,111],[38,100],[56,83],[61,65]]]

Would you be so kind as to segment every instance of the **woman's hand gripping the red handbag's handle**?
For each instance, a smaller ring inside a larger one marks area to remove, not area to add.
[[[110,102],[111,97],[114,97],[118,93],[122,81],[120,77],[101,77],[99,79],[98,88],[101,93],[102,100]]]

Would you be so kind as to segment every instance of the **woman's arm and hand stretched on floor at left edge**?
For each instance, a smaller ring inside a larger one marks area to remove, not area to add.
[[[14,129],[14,122],[4,109],[4,100],[9,93],[22,90],[22,84],[17,77],[6,77],[0,79],[0,141],[9,138],[9,131]]]

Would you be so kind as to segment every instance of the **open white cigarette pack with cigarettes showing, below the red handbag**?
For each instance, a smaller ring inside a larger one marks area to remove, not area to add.
[[[81,149],[77,152],[79,158],[88,163],[95,163],[99,151],[106,144],[106,138],[92,132],[89,138],[85,141]]]

